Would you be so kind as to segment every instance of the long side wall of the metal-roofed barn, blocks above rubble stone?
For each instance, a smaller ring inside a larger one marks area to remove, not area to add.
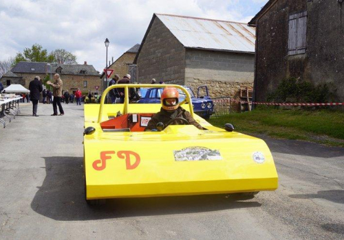
[[[185,85],[208,86],[211,97],[237,97],[240,87],[253,86],[255,56],[251,53],[186,50]]]

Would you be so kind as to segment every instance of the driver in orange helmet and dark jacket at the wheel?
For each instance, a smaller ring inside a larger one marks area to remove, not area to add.
[[[166,127],[166,123],[168,123],[171,119],[175,119],[176,117],[186,119],[190,124],[195,125],[197,128],[204,129],[199,123],[197,123],[197,121],[195,121],[195,119],[193,119],[190,112],[179,106],[179,93],[177,88],[164,88],[164,91],[162,91],[161,94],[161,104],[162,108],[160,109],[160,112],[157,112],[155,115],[153,115],[145,130],[156,129],[156,125],[159,122],[162,122]],[[177,119],[171,124],[179,125],[183,123],[184,122],[182,120]]]

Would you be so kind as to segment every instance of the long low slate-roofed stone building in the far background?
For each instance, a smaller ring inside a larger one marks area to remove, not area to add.
[[[51,67],[51,68],[50,68]],[[4,87],[10,84],[21,84],[25,88],[29,88],[30,81],[34,80],[36,75],[41,80],[46,76],[54,77],[58,73],[63,81],[63,91],[74,93],[77,88],[82,92],[97,93],[96,86],[100,86],[100,74],[92,65],[84,64],[47,64],[46,62],[19,62],[3,77],[1,82]],[[52,80],[54,81],[54,80]],[[100,91],[100,89],[99,89]]]

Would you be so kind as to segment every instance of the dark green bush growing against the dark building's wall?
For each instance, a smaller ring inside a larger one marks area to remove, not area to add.
[[[283,80],[277,90],[268,94],[268,101],[278,103],[290,101],[294,99],[295,102],[327,102],[333,96],[330,93],[330,88],[327,84],[319,84],[314,86],[310,82],[290,77]]]

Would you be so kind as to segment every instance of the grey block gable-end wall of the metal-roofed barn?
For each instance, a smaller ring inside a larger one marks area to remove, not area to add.
[[[155,17],[137,59],[138,82],[184,81],[185,49],[169,29]]]

